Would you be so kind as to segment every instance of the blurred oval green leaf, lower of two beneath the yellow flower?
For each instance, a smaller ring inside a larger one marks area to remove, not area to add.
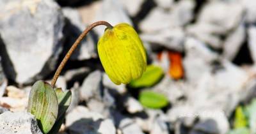
[[[164,94],[153,91],[142,91],[139,100],[144,107],[148,108],[163,108],[168,105],[168,99]]]

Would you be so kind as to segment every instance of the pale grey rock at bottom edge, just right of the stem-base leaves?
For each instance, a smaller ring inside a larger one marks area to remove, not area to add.
[[[66,124],[70,133],[116,133],[115,126],[110,119],[103,119],[99,113],[90,112],[88,108],[83,106],[78,106],[67,114]]]

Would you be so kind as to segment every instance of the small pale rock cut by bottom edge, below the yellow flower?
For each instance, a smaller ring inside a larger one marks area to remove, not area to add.
[[[118,127],[123,132],[123,134],[144,134],[138,124],[134,123],[129,118],[122,119]]]

